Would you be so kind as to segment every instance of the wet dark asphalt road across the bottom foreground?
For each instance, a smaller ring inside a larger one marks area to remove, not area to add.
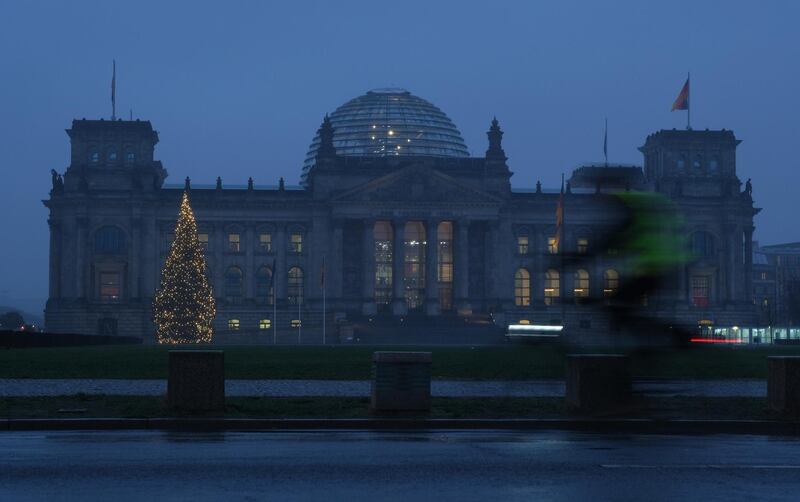
[[[797,500],[800,439],[0,433],[0,500]]]

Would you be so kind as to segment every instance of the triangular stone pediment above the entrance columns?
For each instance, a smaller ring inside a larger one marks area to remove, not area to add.
[[[413,165],[346,190],[332,202],[494,205],[503,200],[430,167]]]

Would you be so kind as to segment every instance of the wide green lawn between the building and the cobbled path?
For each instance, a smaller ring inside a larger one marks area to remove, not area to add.
[[[567,353],[625,352],[558,345],[212,348],[225,351],[225,375],[230,379],[324,380],[369,379],[376,350],[430,351],[434,378],[469,380],[563,378]],[[168,350],[170,347],[152,345],[0,349],[0,378],[166,378]],[[702,346],[629,353],[636,377],[766,378],[767,356],[800,355],[800,347]]]

